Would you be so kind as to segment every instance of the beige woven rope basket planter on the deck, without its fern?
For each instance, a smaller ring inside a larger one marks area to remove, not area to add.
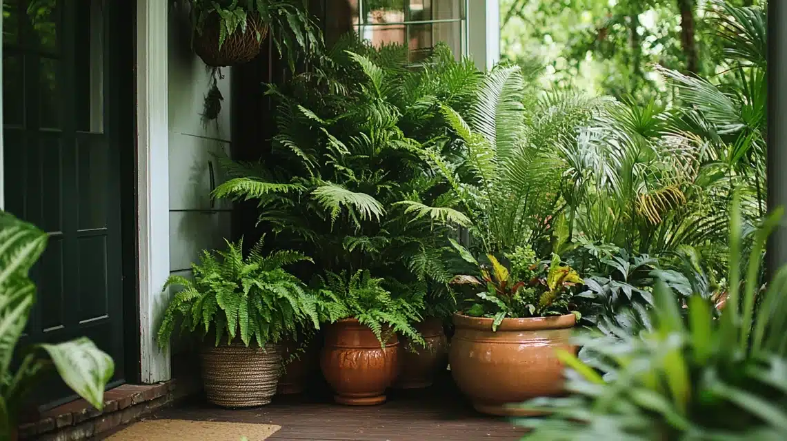
[[[202,383],[208,402],[224,407],[263,406],[271,402],[282,374],[282,347],[236,343],[206,345],[200,352]]]

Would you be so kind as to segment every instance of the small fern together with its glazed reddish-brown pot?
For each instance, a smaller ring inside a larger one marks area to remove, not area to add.
[[[424,344],[411,325],[419,322],[423,303],[392,296],[368,270],[349,276],[327,273],[320,281],[320,289],[332,292],[345,308],[342,320],[325,329],[320,357],[323,375],[336,392],[334,400],[349,406],[385,402],[386,388],[399,371],[397,333]]]

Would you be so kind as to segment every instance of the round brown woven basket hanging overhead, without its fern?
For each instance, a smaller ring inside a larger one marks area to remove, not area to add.
[[[219,20],[218,15],[213,13],[205,20],[202,33],[194,30],[194,52],[205,64],[216,68],[243,64],[257,57],[266,35],[268,26],[259,17],[249,14],[246,19],[246,32],[236,29],[224,39],[224,44],[219,49]]]

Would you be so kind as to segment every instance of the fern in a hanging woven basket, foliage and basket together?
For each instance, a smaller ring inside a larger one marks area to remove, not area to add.
[[[294,50],[314,50],[320,38],[305,5],[295,0],[187,0],[194,51],[205,64],[231,66],[253,60],[268,33],[292,65]]]

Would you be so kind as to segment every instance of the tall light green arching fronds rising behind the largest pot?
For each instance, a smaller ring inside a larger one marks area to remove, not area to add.
[[[575,94],[542,94],[526,84],[517,66],[497,66],[478,87],[475,104],[443,105],[445,119],[463,147],[460,160],[435,149],[426,155],[450,186],[448,207],[411,203],[420,216],[466,227],[479,254],[512,251],[531,244],[549,252],[551,226],[563,215],[563,189],[575,182],[559,145],[577,139],[604,100]],[[567,194],[567,193],[566,193]]]

